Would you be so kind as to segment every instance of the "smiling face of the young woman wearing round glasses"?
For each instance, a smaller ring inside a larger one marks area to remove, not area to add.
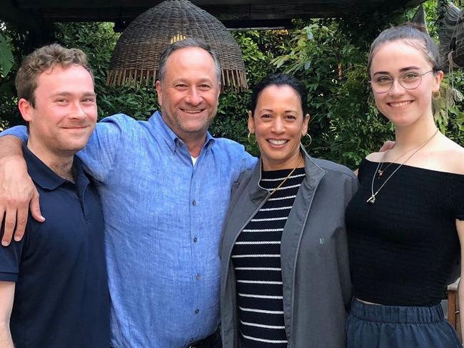
[[[411,40],[388,41],[375,52],[370,65],[375,104],[395,126],[408,126],[432,115],[432,95],[440,88],[443,72],[428,73],[430,70],[433,70],[433,66]],[[405,89],[398,80],[399,76],[405,76],[408,72],[422,75],[415,89]],[[393,79],[393,85],[385,93],[378,93],[375,91],[375,81],[383,76]]]

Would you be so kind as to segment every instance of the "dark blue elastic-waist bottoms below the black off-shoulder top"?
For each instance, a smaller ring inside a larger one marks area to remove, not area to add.
[[[348,315],[348,348],[462,348],[440,304],[400,307],[353,299]]]

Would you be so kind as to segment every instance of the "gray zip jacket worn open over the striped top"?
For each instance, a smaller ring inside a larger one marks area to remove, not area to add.
[[[306,158],[306,178],[283,229],[283,316],[288,347],[346,347],[345,322],[351,297],[345,208],[358,189],[350,169]],[[223,228],[221,335],[224,348],[240,347],[236,278],[231,252],[238,234],[268,198],[259,187],[261,161],[235,187]]]

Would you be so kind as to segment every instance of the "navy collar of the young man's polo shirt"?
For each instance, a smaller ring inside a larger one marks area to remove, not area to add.
[[[23,154],[24,160],[27,164],[27,171],[31,179],[43,189],[54,190],[60,187],[65,182],[68,182],[66,179],[59,177],[54,171],[52,171],[43,161],[39,159],[31,150],[28,149],[26,144],[23,144]],[[82,167],[81,160],[74,156],[73,161],[73,170],[76,177],[76,183],[85,184],[89,182],[86,175],[84,174],[84,169]]]

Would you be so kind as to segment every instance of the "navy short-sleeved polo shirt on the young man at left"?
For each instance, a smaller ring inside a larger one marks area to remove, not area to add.
[[[16,348],[109,347],[109,292],[99,196],[74,156],[72,183],[26,146],[44,223],[29,216],[21,242],[0,247],[0,280],[16,282]]]

